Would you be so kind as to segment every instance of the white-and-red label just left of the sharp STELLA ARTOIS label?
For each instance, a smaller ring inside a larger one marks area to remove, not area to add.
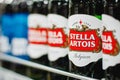
[[[68,53],[67,19],[57,14],[49,14],[48,59],[56,61]]]

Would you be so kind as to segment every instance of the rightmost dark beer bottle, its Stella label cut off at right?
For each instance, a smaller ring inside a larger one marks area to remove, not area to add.
[[[106,0],[104,14],[102,15],[103,33],[102,33],[102,51],[103,51],[103,69],[105,70],[106,80],[120,79],[120,49],[119,47],[119,27],[120,27],[120,2],[119,0]],[[109,41],[108,40],[109,37]],[[108,48],[109,47],[109,48]]]

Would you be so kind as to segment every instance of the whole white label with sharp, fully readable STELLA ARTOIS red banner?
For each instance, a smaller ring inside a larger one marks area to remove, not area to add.
[[[82,67],[102,57],[101,21],[85,14],[72,15],[69,26],[69,59]]]

